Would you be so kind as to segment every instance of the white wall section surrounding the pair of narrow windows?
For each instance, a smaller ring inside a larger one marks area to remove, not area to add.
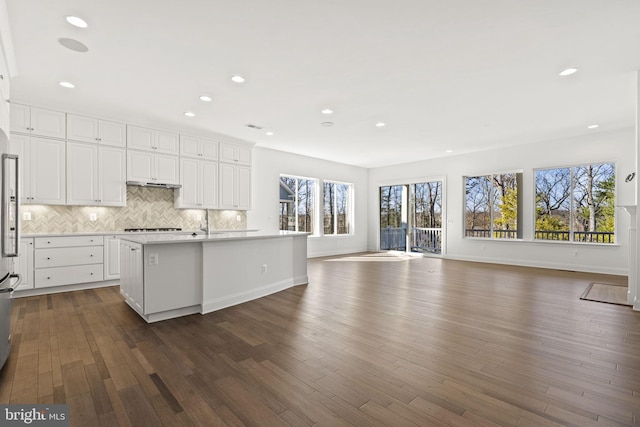
[[[349,236],[309,237],[309,257],[363,252],[367,250],[367,176],[365,168],[255,147],[253,150],[251,210],[247,227],[278,231],[280,175],[327,179],[353,184],[353,234]]]

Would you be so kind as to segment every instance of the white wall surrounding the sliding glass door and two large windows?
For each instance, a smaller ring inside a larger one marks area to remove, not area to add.
[[[564,270],[627,274],[629,217],[616,212],[617,244],[534,242],[533,169],[584,163],[615,162],[616,205],[635,204],[635,186],[624,178],[635,171],[633,129],[483,151],[369,170],[369,250],[378,248],[378,188],[408,179],[445,177],[446,258]],[[523,172],[524,239],[504,241],[464,238],[464,176]]]

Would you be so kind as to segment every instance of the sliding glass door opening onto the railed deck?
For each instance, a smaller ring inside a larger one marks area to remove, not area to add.
[[[442,254],[442,181],[381,186],[380,250]]]

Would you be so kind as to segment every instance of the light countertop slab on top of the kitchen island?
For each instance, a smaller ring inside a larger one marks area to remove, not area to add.
[[[185,233],[126,233],[126,236],[120,236],[123,240],[128,240],[134,243],[140,243],[143,245],[158,245],[168,243],[207,243],[207,242],[220,242],[231,240],[255,240],[255,239],[272,239],[279,237],[296,237],[296,236],[308,236],[311,233],[296,232],[296,231],[280,231],[279,233],[264,232],[260,230],[233,230],[233,231],[212,231],[211,234],[206,235],[204,233],[192,234]]]

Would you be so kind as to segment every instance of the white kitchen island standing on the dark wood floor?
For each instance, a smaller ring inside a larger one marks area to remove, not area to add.
[[[120,292],[147,322],[206,314],[308,283],[307,236],[281,231],[123,236]]]

